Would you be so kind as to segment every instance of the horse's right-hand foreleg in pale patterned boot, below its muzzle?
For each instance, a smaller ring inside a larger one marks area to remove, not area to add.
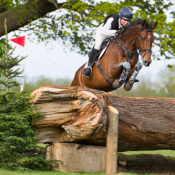
[[[133,84],[134,84],[134,82],[135,82],[135,79],[136,79],[137,75],[139,74],[139,71],[142,69],[142,67],[143,67],[142,63],[140,63],[140,62],[137,62],[137,63],[136,63],[133,74],[131,75],[129,81],[127,81],[127,82],[125,83],[124,89],[125,89],[126,91],[129,91],[129,90],[132,89]]]

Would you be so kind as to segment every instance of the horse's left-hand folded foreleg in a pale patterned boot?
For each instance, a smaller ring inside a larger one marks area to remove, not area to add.
[[[122,71],[122,73],[120,75],[120,78],[113,82],[112,86],[115,89],[119,88],[126,81],[126,79],[128,77],[128,74],[129,74],[129,71],[131,69],[131,66],[130,66],[129,62],[122,62],[116,68],[118,68],[120,66],[123,67],[123,71]]]

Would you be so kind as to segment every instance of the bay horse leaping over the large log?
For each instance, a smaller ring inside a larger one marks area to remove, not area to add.
[[[106,92],[113,91],[117,89],[113,84],[120,78],[123,71],[123,67],[118,65],[122,62],[129,62],[130,70],[124,82],[124,89],[130,90],[132,86],[127,88],[127,83],[133,74],[136,63],[139,61],[139,54],[144,66],[149,66],[152,61],[151,47],[154,41],[152,30],[156,27],[157,22],[149,24],[142,19],[132,21],[129,26],[125,27],[122,35],[114,37],[102,58],[96,61],[91,77],[87,78],[82,75],[84,64],[77,70],[71,86],[83,86]],[[102,72],[98,67],[99,62]]]

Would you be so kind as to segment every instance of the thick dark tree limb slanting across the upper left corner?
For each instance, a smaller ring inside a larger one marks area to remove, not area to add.
[[[4,19],[7,18],[7,33],[18,30],[31,21],[44,17],[47,13],[60,8],[63,3],[54,4],[53,0],[29,0],[21,8],[11,10],[0,9],[0,36],[5,34]]]

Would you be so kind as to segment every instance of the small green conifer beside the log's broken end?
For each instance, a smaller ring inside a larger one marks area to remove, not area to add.
[[[13,58],[14,50],[8,47],[8,37],[2,44],[0,57],[0,167],[7,169],[50,169],[53,161],[45,160],[44,152],[37,146],[32,119],[42,117],[33,111],[27,93],[12,92],[19,85],[14,80],[21,74],[14,69],[24,57]]]

